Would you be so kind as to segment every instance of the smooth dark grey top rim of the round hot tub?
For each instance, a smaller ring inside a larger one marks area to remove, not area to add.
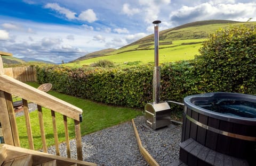
[[[210,93],[204,93],[204,94],[189,95],[184,98],[184,104],[185,104],[185,107],[188,107],[189,109],[194,110],[198,113],[201,113],[205,116],[209,116],[212,118],[229,121],[237,124],[256,126],[256,118],[230,116],[224,113],[219,113],[219,112],[214,112],[211,110],[204,109],[192,103],[193,101],[195,101],[193,99],[196,99],[196,98],[214,98],[217,95],[222,95],[222,97],[233,97],[233,99],[241,99],[243,97],[243,99],[246,98],[249,101],[256,102],[256,96],[250,95],[250,94],[230,93],[230,92],[210,92]],[[184,109],[184,111],[186,111],[186,109]],[[187,114],[187,112],[184,112],[184,113]]]

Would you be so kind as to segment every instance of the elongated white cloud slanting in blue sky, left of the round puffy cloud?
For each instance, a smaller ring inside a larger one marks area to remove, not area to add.
[[[71,12],[69,9],[67,9],[65,7],[60,7],[59,4],[57,4],[57,3],[47,3],[45,5],[45,8],[51,8],[52,10],[55,10],[55,11],[59,12],[60,14],[64,14],[66,16],[66,18],[69,20],[76,18],[75,12]]]

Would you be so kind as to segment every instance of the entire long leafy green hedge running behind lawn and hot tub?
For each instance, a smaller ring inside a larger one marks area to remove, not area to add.
[[[183,102],[206,92],[256,94],[255,28],[231,27],[209,35],[193,60],[161,66],[161,100]],[[76,97],[142,108],[153,97],[152,64],[131,68],[37,66],[39,83]]]

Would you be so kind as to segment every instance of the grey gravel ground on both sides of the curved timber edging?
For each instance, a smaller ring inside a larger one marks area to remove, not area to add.
[[[159,165],[169,165],[179,159],[181,126],[170,125],[158,130],[145,126],[144,117],[134,119],[142,145]],[[132,122],[126,122],[82,137],[83,160],[107,165],[148,165],[140,154]],[[59,145],[62,156],[66,155],[66,143]],[[71,158],[76,159],[76,142],[70,141]],[[48,148],[55,154],[55,147]]]

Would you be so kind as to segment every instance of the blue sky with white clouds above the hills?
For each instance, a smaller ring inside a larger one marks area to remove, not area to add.
[[[0,51],[69,62],[160,30],[221,19],[256,21],[256,0],[0,0]]]

